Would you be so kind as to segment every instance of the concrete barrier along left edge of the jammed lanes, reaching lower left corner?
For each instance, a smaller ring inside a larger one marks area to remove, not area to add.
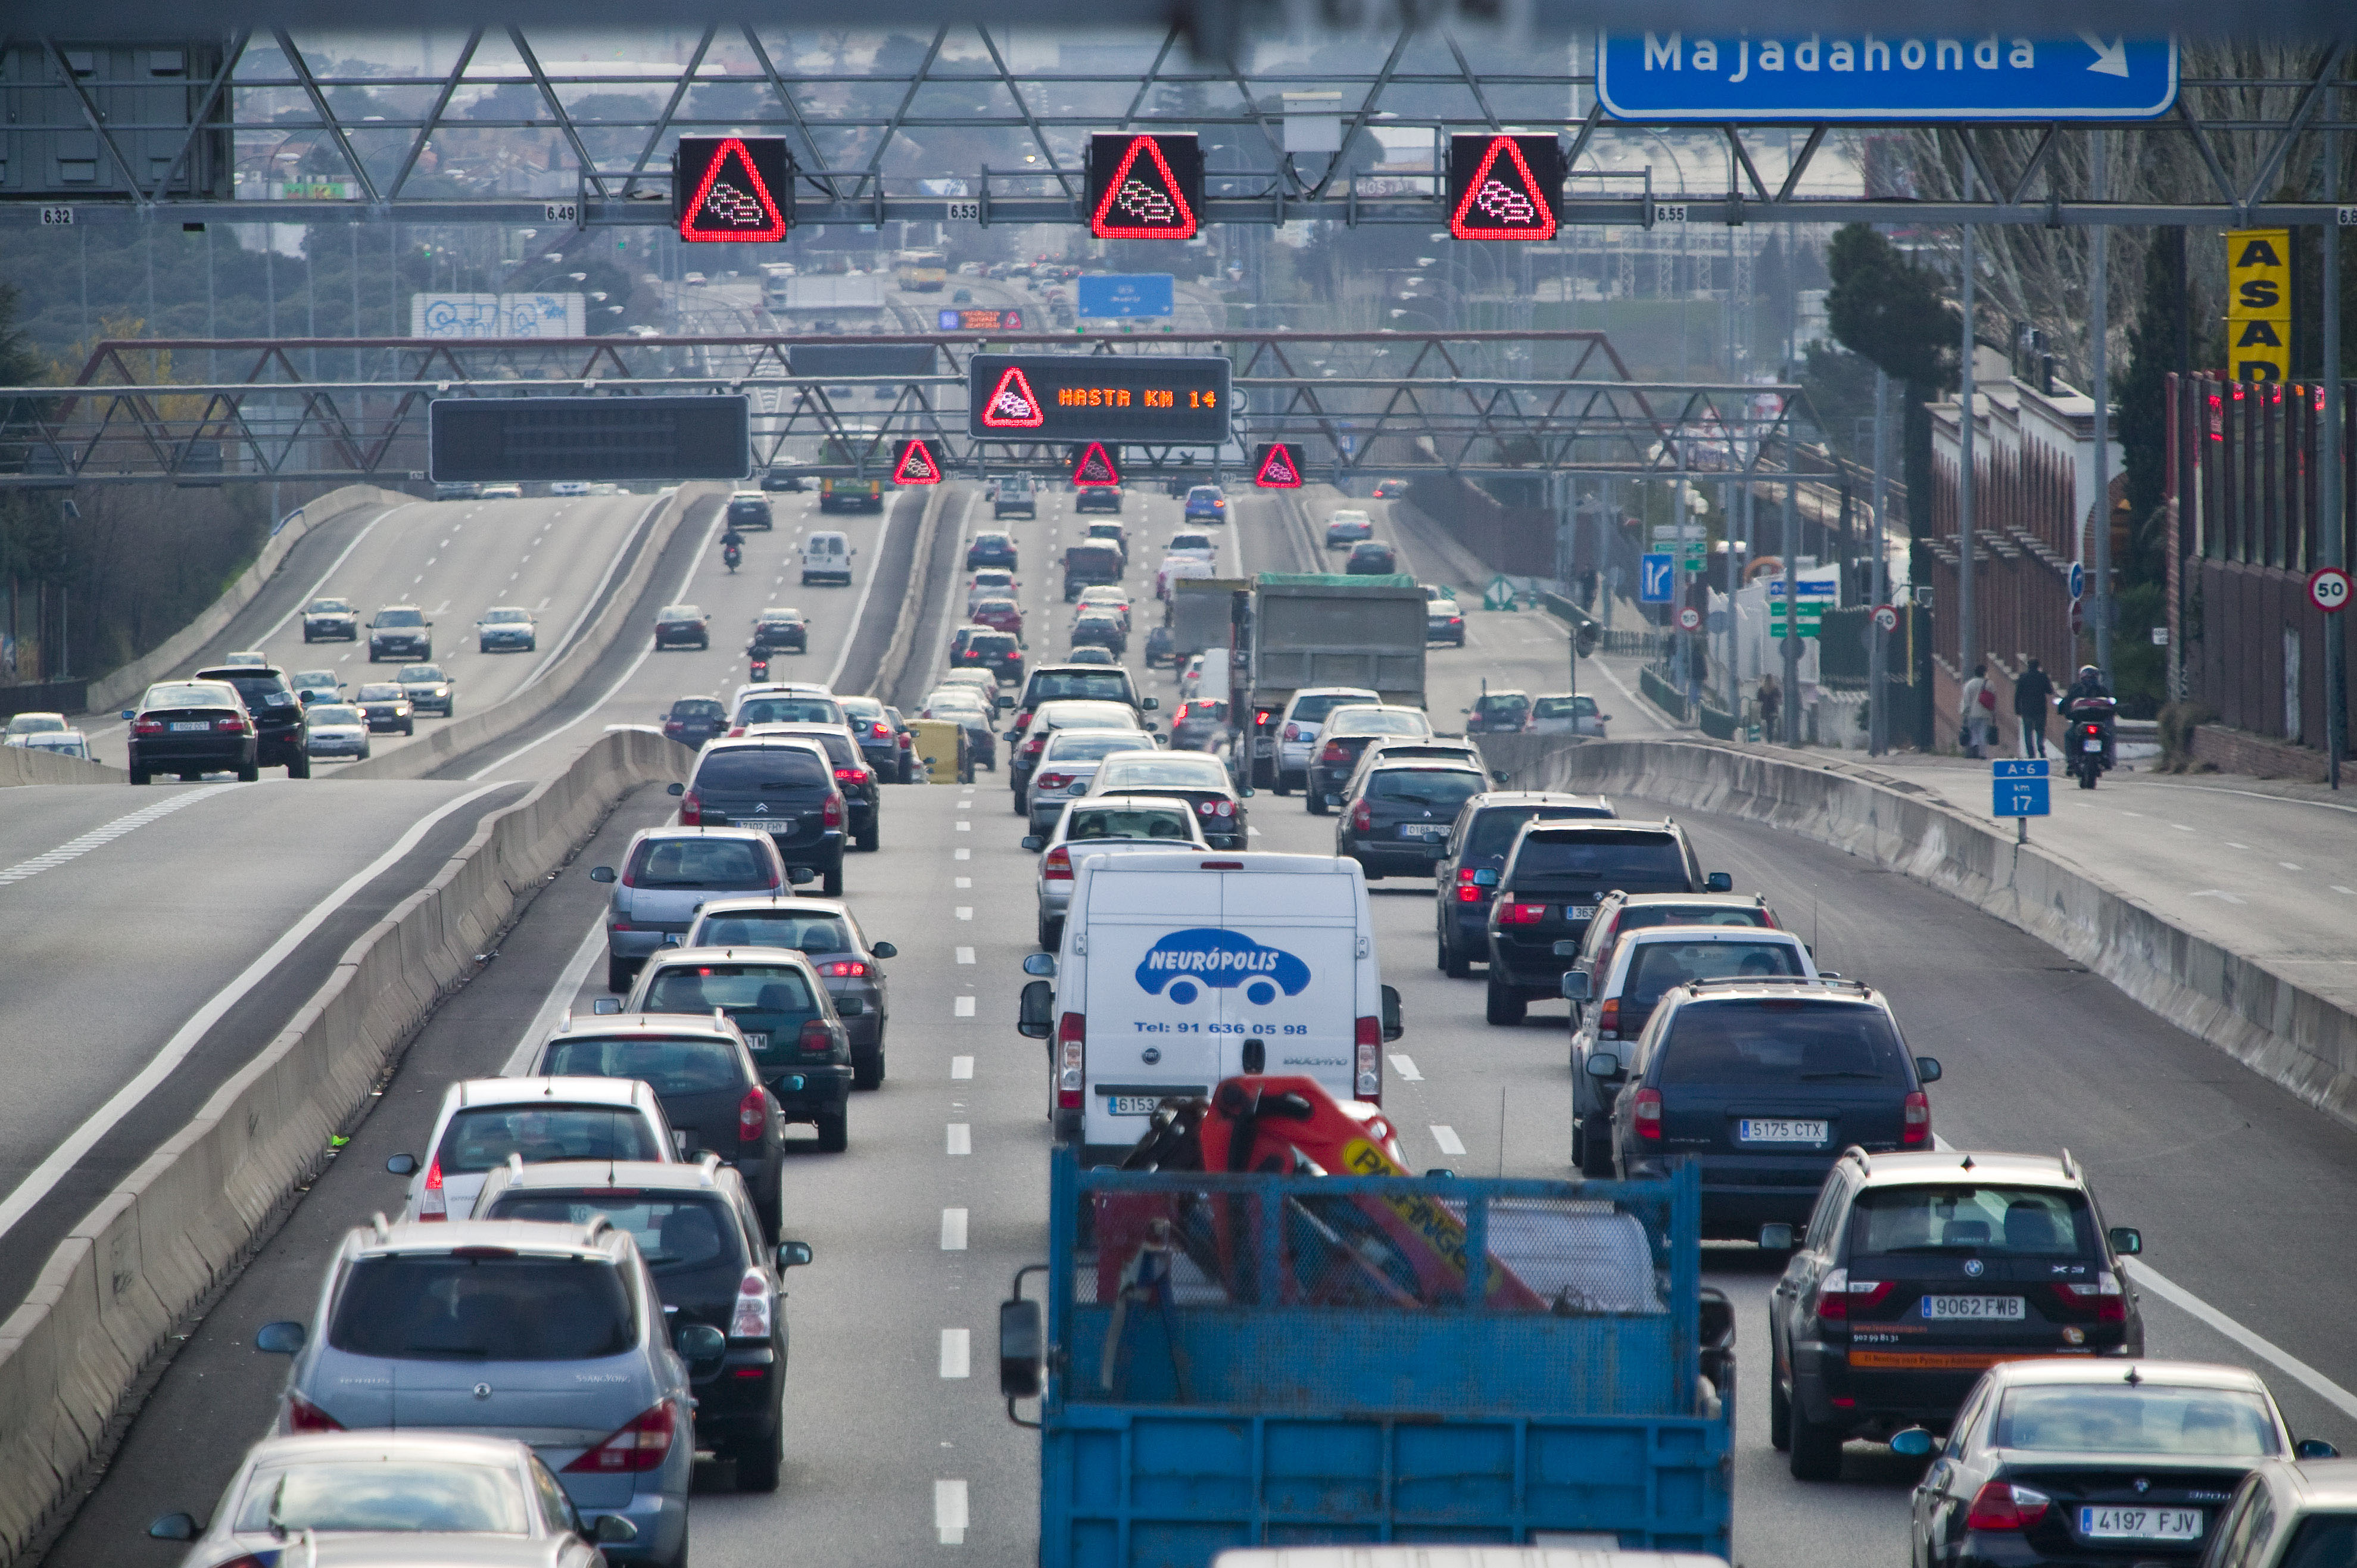
[[[118,1412],[181,1320],[365,1111],[434,1004],[625,792],[681,776],[688,752],[615,731],[493,811],[417,894],[337,960],[245,1068],[59,1243],[0,1323],[0,1563],[80,1497]],[[243,1438],[240,1438],[243,1441]]]

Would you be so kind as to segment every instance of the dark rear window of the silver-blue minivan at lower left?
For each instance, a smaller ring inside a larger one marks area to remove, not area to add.
[[[514,1252],[363,1257],[328,1330],[335,1349],[387,1361],[594,1361],[636,1342],[618,1269]]]

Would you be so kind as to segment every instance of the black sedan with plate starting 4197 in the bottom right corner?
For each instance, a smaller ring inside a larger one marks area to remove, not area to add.
[[[1909,1457],[1940,1450],[1914,1490],[1916,1568],[2100,1563],[2112,1554],[2138,1568],[2192,1566],[2253,1467],[2341,1452],[2322,1438],[2293,1438],[2249,1368],[2069,1356],[1989,1368],[1945,1448],[1921,1427],[1897,1434],[1895,1448]],[[2345,1542],[2345,1514],[2338,1526]],[[2265,1535],[2253,1528],[2246,1540]]]

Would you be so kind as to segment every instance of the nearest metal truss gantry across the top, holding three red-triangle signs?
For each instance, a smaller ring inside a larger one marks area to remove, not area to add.
[[[1999,26],[1994,12],[1982,24]],[[1612,120],[1596,101],[1586,33],[1247,35],[1221,57],[1178,26],[1110,42],[1072,35],[1089,42],[1058,45],[1049,68],[1037,64],[1047,47],[1018,50],[1006,26],[931,21],[915,33],[709,24],[589,40],[580,24],[509,24],[450,33],[441,50],[415,31],[297,40],[271,28],[189,50],[177,92],[104,73],[153,52],[101,59],[19,35],[7,42],[19,108],[0,139],[28,153],[35,134],[87,137],[94,172],[80,196],[9,189],[0,224],[57,222],[71,207],[71,222],[266,212],[283,224],[655,226],[669,222],[674,141],[717,132],[785,137],[801,224],[1077,224],[1087,139],[1120,130],[1204,139],[1211,224],[1438,224],[1445,137],[1501,127],[1567,139],[1567,217],[1579,224],[1652,226],[1664,205],[1709,224],[2315,224],[2333,222],[2333,193],[2289,172],[2315,163],[2326,132],[2357,127],[2345,42],[2265,50],[2260,64],[2190,52],[2161,120],[1945,127],[1942,156],[1970,170],[1959,182],[1970,193],[1956,198],[1876,179],[1871,144],[1907,134],[1897,127]],[[417,64],[403,75],[389,59]],[[111,94],[139,106],[108,113]],[[1336,123],[1341,151],[1285,151],[1289,120],[1308,113]],[[2084,146],[2069,151],[2098,130],[2119,139],[2114,167],[2159,160],[2185,179],[2100,200]],[[1398,158],[1402,139],[1421,137],[1438,156]],[[1676,189],[1655,179],[1657,146],[1685,149]]]

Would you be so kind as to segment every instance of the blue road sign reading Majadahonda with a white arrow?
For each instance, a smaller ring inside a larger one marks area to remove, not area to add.
[[[1622,120],[2152,120],[2178,99],[2178,45],[2088,31],[1603,33],[1596,97]]]

